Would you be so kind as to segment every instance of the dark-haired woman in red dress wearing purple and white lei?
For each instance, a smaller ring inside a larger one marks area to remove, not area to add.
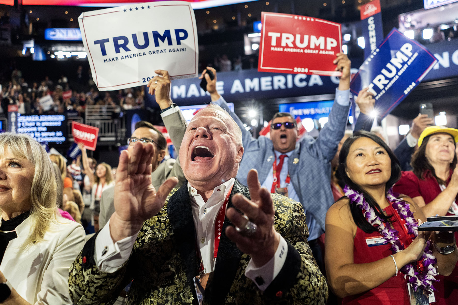
[[[326,215],[330,288],[343,304],[428,304],[434,276],[450,274],[458,260],[458,251],[441,254],[431,243],[454,245],[453,234],[417,232],[416,219],[425,215],[393,193],[399,162],[376,135],[360,131],[347,139],[338,171],[346,197]]]

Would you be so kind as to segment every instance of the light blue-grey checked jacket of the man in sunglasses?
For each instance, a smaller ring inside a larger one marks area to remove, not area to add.
[[[248,171],[254,168],[258,171],[259,181],[264,182],[275,160],[272,141],[264,136],[253,138],[251,132],[245,130],[240,118],[230,111],[223,97],[213,103],[226,109],[242,130],[245,151],[237,179],[247,185]],[[341,106],[334,101],[329,113],[329,121],[320,131],[318,138],[313,139],[305,135],[296,143],[293,154],[288,158],[291,183],[304,207],[305,214],[311,214],[323,231],[327,209],[334,203],[331,191],[331,160],[344,136],[349,107]]]

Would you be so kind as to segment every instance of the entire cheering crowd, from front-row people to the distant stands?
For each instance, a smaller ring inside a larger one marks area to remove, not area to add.
[[[148,83],[176,160],[164,160],[158,122],[136,124],[117,168],[82,143],[65,160],[27,135],[0,134],[0,285],[11,291],[0,303],[456,304],[457,234],[418,226],[458,215],[458,129],[419,115],[392,151],[371,130],[365,88],[347,130],[350,61],[339,53],[334,64],[342,76],[316,138],[298,139],[285,112],[270,137],[253,138],[216,91],[218,70],[232,69],[227,56],[207,67],[213,80],[202,72],[212,104],[189,124],[168,72]],[[29,87],[14,69],[2,108],[43,113],[37,99],[50,91],[49,113],[143,105],[144,91],[132,89],[64,100],[69,81],[56,83]]]

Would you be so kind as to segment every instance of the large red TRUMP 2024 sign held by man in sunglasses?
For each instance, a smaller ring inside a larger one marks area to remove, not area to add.
[[[333,60],[342,50],[339,23],[262,12],[258,71],[340,76]]]

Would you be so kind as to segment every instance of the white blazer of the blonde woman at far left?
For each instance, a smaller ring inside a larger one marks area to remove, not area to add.
[[[71,305],[68,290],[69,269],[84,246],[82,225],[57,216],[44,235],[44,241],[19,250],[32,231],[28,217],[16,227],[17,238],[6,247],[0,271],[17,293],[35,305]]]

